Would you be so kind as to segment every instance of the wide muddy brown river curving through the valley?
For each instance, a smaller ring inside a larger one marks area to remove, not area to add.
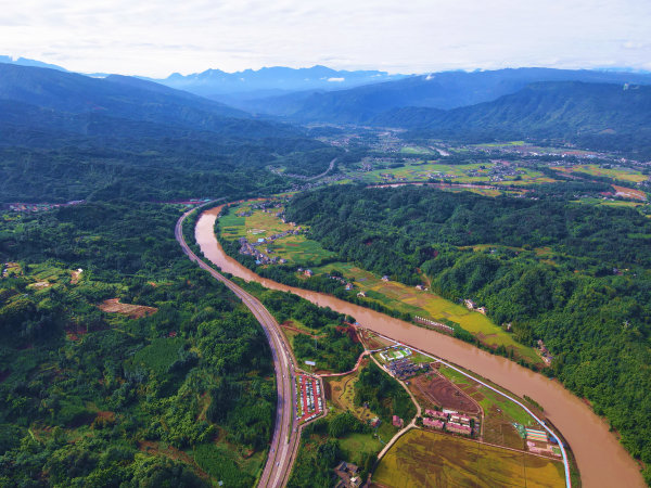
[[[637,463],[609,432],[608,424],[559,382],[448,335],[419,328],[333,296],[264,279],[225,254],[214,233],[218,214],[219,208],[202,214],[196,224],[195,237],[205,257],[222,271],[246,281],[257,281],[267,288],[295,293],[314,304],[353,316],[367,329],[471,370],[520,397],[529,396],[542,406],[546,416],[570,444],[580,471],[583,486],[646,486]]]

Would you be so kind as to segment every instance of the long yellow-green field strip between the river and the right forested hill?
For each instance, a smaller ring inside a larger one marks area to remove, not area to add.
[[[531,362],[540,362],[540,358],[534,349],[516,343],[511,334],[494,324],[482,313],[468,310],[465,307],[431,292],[423,292],[393,281],[384,282],[352,264],[333,262],[314,268],[315,273],[331,272],[332,270],[342,272],[347,279],[354,279],[355,292],[365,292],[367,300],[374,300],[385,307],[435,321],[446,319],[456,322],[488,346],[503,345],[506,348],[512,348],[516,355]]]

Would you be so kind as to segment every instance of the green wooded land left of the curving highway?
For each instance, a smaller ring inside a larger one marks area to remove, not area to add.
[[[116,202],[3,216],[0,257],[16,266],[0,280],[0,485],[253,485],[273,428],[270,351],[179,252],[179,215]],[[110,298],[154,312],[100,310]]]

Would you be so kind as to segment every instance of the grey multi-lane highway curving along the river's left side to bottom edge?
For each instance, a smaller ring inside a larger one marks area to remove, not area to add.
[[[248,294],[232,281],[228,280],[222,274],[215,271],[196,254],[190,249],[183,237],[183,220],[193,210],[188,210],[177,221],[175,228],[176,240],[181,245],[183,253],[188,255],[190,260],[196,262],[201,268],[208,271],[213,278],[224,283],[230,288],[238,297],[248,307],[255,318],[260,322],[269,346],[271,348],[271,356],[273,359],[273,369],[276,371],[276,383],[278,387],[278,404],[276,409],[276,422],[273,429],[273,437],[271,439],[271,447],[267,464],[263,471],[263,475],[259,479],[259,487],[281,487],[286,485],[286,481],[292,472],[292,465],[296,459],[296,452],[298,450],[298,440],[301,432],[297,428],[296,420],[294,418],[294,404],[295,404],[295,376],[294,376],[294,359],[290,352],[290,348],[284,338],[284,335],[280,331],[280,326],[276,319],[269,313],[269,311],[263,306],[263,304]],[[197,210],[199,211],[199,210]]]

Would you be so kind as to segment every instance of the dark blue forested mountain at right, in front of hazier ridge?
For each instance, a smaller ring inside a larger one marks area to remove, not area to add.
[[[452,111],[396,108],[373,123],[430,137],[564,139],[646,155],[651,153],[651,87],[540,82],[493,102]]]

